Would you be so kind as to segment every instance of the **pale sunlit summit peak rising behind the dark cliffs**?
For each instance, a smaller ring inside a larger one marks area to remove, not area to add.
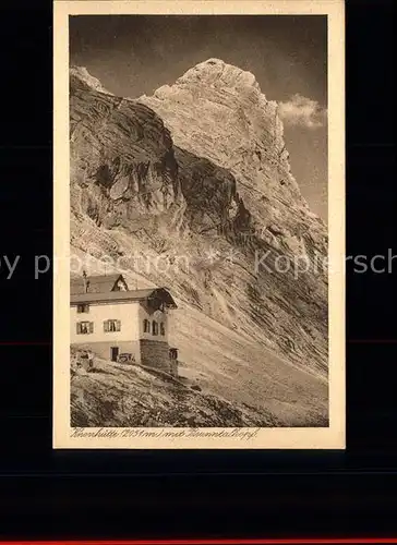
[[[277,102],[266,100],[253,74],[209,59],[140,101],[163,118],[177,146],[234,175],[264,240],[292,254],[297,246],[326,253],[326,228],[290,172]]]

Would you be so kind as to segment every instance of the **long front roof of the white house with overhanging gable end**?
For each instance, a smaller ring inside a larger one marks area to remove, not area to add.
[[[145,290],[108,291],[97,293],[71,293],[72,305],[79,303],[122,303],[128,301],[148,301],[151,299],[160,299],[167,306],[177,308],[176,302],[166,288],[148,288]]]

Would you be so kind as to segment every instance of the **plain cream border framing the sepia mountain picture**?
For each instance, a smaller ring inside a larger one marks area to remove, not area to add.
[[[324,14],[328,20],[329,427],[70,426],[69,15]],[[53,448],[345,448],[345,5],[341,0],[64,1],[53,3]],[[215,435],[215,436],[214,436]]]

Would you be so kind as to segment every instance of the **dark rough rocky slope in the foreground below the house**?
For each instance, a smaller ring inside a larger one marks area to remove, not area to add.
[[[266,404],[266,403],[265,403]],[[202,391],[200,380],[171,378],[139,366],[96,360],[72,368],[73,427],[277,427],[266,407],[230,402]],[[312,424],[327,425],[326,416]],[[306,425],[311,425],[308,421]]]

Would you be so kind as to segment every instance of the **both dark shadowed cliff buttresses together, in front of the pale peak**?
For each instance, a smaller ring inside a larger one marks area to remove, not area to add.
[[[232,174],[176,148],[153,110],[105,95],[81,73],[71,70],[70,80],[72,210],[108,229],[134,230],[160,216],[170,227],[178,209],[185,229],[217,232],[237,198]]]

